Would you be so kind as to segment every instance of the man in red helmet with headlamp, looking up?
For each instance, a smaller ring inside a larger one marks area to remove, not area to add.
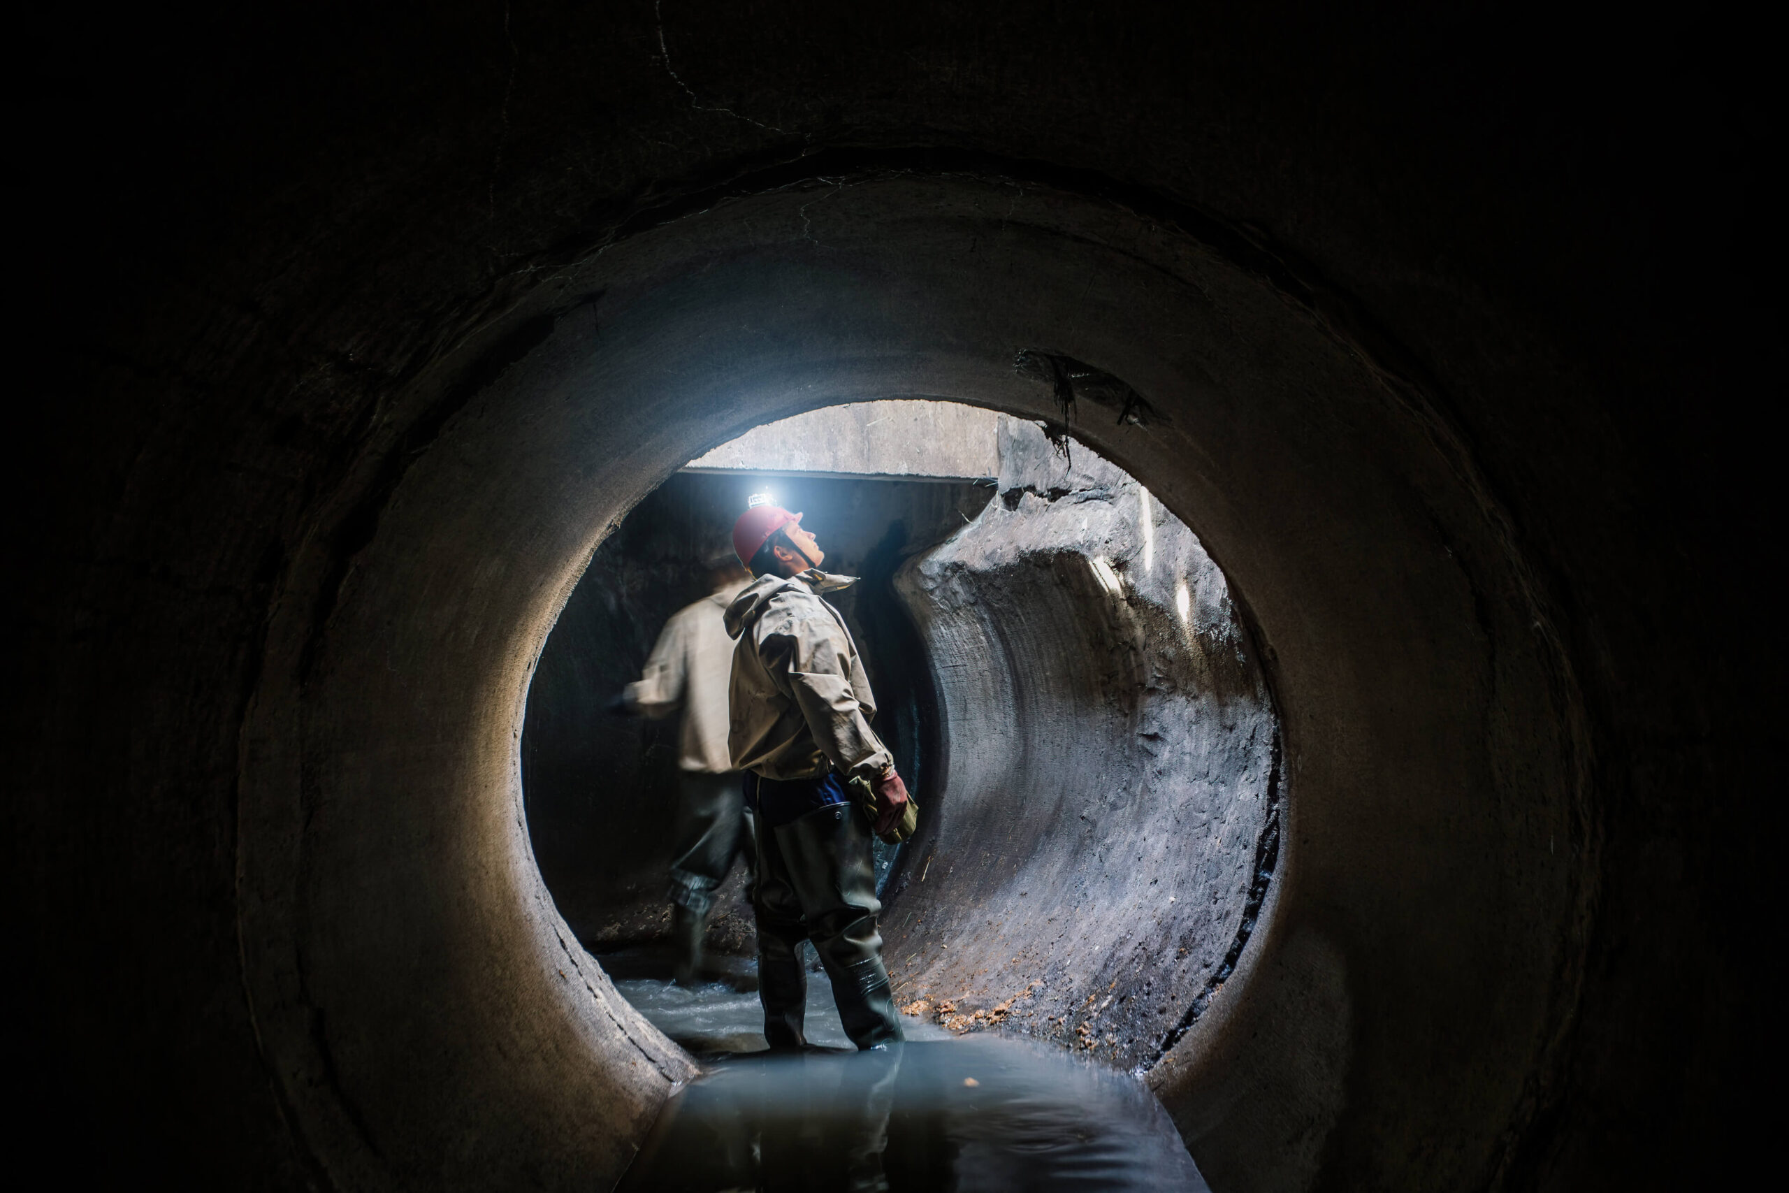
[[[857,644],[823,599],[853,578],[819,571],[825,551],[800,513],[751,501],[733,524],[733,551],[755,580],[726,610],[737,639],[728,744],[755,812],[764,1037],[773,1050],[807,1046],[800,944],[810,939],[846,1036],[861,1050],[882,1048],[902,1030],[877,932],[869,833],[902,839],[914,808],[869,728],[877,705]]]

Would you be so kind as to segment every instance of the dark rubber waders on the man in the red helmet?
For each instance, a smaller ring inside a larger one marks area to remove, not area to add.
[[[762,787],[839,787],[835,776],[789,783],[751,776],[746,782]],[[814,941],[852,1043],[875,1048],[900,1041],[900,1016],[877,932],[882,903],[877,901],[866,814],[850,800],[841,800],[784,825],[773,826],[767,819],[775,817],[766,817],[760,807],[755,823],[757,885],[751,891],[766,1041],[778,1050],[807,1045],[803,937]]]

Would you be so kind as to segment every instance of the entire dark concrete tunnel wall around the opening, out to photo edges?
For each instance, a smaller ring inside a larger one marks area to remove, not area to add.
[[[1746,1157],[1773,272],[1703,179],[1755,75],[1707,29],[1125,13],[47,41],[29,1138],[215,1188],[619,1172],[689,1064],[567,946],[517,796],[581,560],[798,410],[1061,422],[1043,349],[1147,399],[1073,433],[1224,567],[1283,717],[1277,903],[1157,1086],[1213,1182]]]

